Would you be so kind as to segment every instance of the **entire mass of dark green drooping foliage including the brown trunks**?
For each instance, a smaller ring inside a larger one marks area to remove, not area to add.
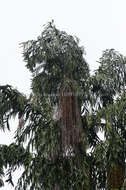
[[[53,22],[22,45],[32,93],[0,86],[1,129],[19,119],[14,143],[0,146],[0,186],[5,168],[14,185],[12,174],[23,167],[17,190],[123,188],[126,58],[107,49],[90,75],[78,39]]]

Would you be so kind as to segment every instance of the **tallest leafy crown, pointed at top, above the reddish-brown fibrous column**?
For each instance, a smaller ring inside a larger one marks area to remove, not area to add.
[[[59,84],[65,77],[73,78],[86,91],[89,67],[73,36],[49,23],[37,40],[25,42],[23,47],[26,66],[33,74],[34,92],[55,103]]]

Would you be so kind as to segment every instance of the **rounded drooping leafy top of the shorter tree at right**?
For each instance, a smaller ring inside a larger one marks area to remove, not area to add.
[[[92,91],[105,107],[126,90],[126,57],[107,49],[99,59],[100,66],[93,76]]]

